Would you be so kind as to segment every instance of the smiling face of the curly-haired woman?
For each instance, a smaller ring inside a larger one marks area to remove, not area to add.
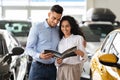
[[[68,37],[71,35],[71,26],[67,20],[62,21],[61,31],[63,32],[65,37]]]

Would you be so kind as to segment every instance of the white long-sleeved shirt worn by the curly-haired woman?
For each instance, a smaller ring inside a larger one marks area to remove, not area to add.
[[[80,35],[73,35],[71,34],[68,38],[62,38],[61,41],[59,42],[58,45],[58,51],[60,53],[64,52],[65,50],[77,46],[77,49],[81,50],[84,52],[84,56],[81,57],[79,55],[74,56],[74,57],[68,57],[63,59],[63,63],[66,64],[79,64],[81,63],[83,60],[87,59],[87,55],[86,55],[86,51],[85,48],[83,46],[83,37]],[[58,65],[58,64],[57,64]]]

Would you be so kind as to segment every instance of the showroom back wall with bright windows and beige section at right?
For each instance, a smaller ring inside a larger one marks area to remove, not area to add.
[[[119,0],[0,0],[0,19],[43,20],[53,4],[63,6],[64,15],[72,15],[78,22],[86,20],[90,8],[109,8],[120,20]]]

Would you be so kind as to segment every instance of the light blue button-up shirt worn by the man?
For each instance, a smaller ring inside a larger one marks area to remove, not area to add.
[[[25,53],[32,56],[36,61],[46,64],[53,63],[54,58],[45,60],[40,59],[39,56],[45,49],[57,50],[58,42],[59,33],[57,26],[51,28],[46,20],[44,22],[37,22],[30,29]]]

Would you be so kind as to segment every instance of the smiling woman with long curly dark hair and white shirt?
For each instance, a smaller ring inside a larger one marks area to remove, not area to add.
[[[84,35],[76,20],[71,16],[63,16],[59,27],[61,40],[58,51],[62,53],[71,47],[77,46],[77,50],[75,50],[77,56],[56,59],[56,66],[58,67],[57,80],[80,80],[83,63],[87,60]]]

